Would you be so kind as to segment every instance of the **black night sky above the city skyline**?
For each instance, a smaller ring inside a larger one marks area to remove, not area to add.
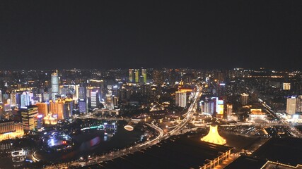
[[[0,1],[0,70],[301,63],[301,0]]]

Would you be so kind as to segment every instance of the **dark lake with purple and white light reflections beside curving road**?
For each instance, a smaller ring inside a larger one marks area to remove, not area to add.
[[[117,124],[104,123],[104,129],[92,127],[81,130],[81,134],[71,136],[75,143],[74,148],[69,151],[38,151],[37,158],[43,161],[70,161],[82,156],[102,155],[109,151],[122,149],[141,140],[144,132],[141,126],[134,127],[132,132],[124,129],[126,121]]]

